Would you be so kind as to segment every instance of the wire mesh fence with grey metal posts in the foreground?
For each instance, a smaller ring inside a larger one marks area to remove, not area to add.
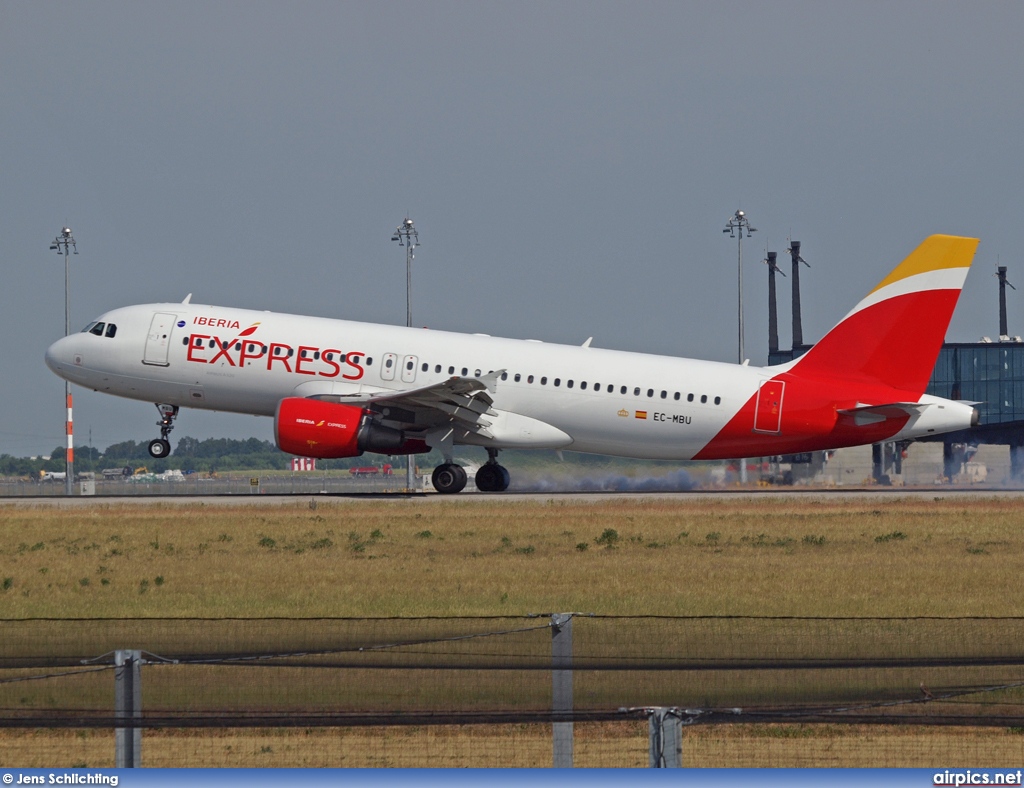
[[[1024,618],[0,627],[5,765],[1009,767],[1024,757]]]

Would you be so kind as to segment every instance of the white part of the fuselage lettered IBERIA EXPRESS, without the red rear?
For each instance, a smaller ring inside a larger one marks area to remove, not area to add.
[[[169,316],[166,337],[154,330],[158,314]],[[369,394],[505,370],[495,408],[571,436],[549,447],[648,458],[690,458],[766,377],[735,364],[198,304],[125,307],[97,319],[117,325],[115,337],[72,335],[53,345],[47,363],[108,394],[272,417],[288,396]],[[243,358],[254,343],[251,352],[266,352]]]

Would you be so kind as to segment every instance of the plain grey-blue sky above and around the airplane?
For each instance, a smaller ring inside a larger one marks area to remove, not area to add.
[[[997,259],[1024,334],[1022,34],[1009,2],[0,0],[0,453],[63,440],[65,222],[73,331],[189,292],[402,323],[408,212],[416,324],[731,361],[741,207],[754,363],[791,232],[807,340],[933,232],[982,239],[948,338],[997,334]],[[76,389],[78,445],[155,422]]]

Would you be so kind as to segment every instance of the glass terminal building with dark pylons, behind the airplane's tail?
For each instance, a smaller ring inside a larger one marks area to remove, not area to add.
[[[778,320],[775,304],[775,273],[781,273],[776,256],[768,259],[768,363],[779,364],[803,355],[811,347],[803,343],[800,314],[800,243],[792,242],[793,258],[793,347],[778,347]],[[806,265],[806,263],[805,263]],[[946,343],[932,371],[927,393],[946,399],[978,403],[980,412],[977,427],[954,433],[936,435],[923,442],[942,444],[942,465],[939,474],[946,481],[964,478],[965,469],[972,465],[975,455],[985,447],[1009,447],[1009,467],[988,482],[1024,482],[1024,340],[1009,335],[1007,330],[1007,268],[997,268],[999,280],[999,334],[993,341],[983,337],[980,342]],[[878,483],[891,483],[893,477],[903,476],[903,459],[908,456],[909,442],[886,443],[871,447],[870,476]],[[844,449],[844,451],[850,451]],[[1005,451],[1005,449],[1004,449]],[[993,453],[989,449],[989,456]],[[807,465],[804,477],[820,473],[824,458],[798,455],[783,458],[796,469],[801,461]],[[794,474],[798,476],[798,474]],[[984,477],[982,477],[984,478]]]

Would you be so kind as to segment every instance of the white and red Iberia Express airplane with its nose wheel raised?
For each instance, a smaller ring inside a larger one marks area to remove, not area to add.
[[[975,403],[925,394],[977,238],[932,235],[805,355],[757,367],[474,334],[181,303],[128,306],[54,342],[78,386],[154,402],[166,456],[181,407],[271,417],[278,446],[312,457],[456,446],[647,459],[771,456],[914,439],[978,424]]]

